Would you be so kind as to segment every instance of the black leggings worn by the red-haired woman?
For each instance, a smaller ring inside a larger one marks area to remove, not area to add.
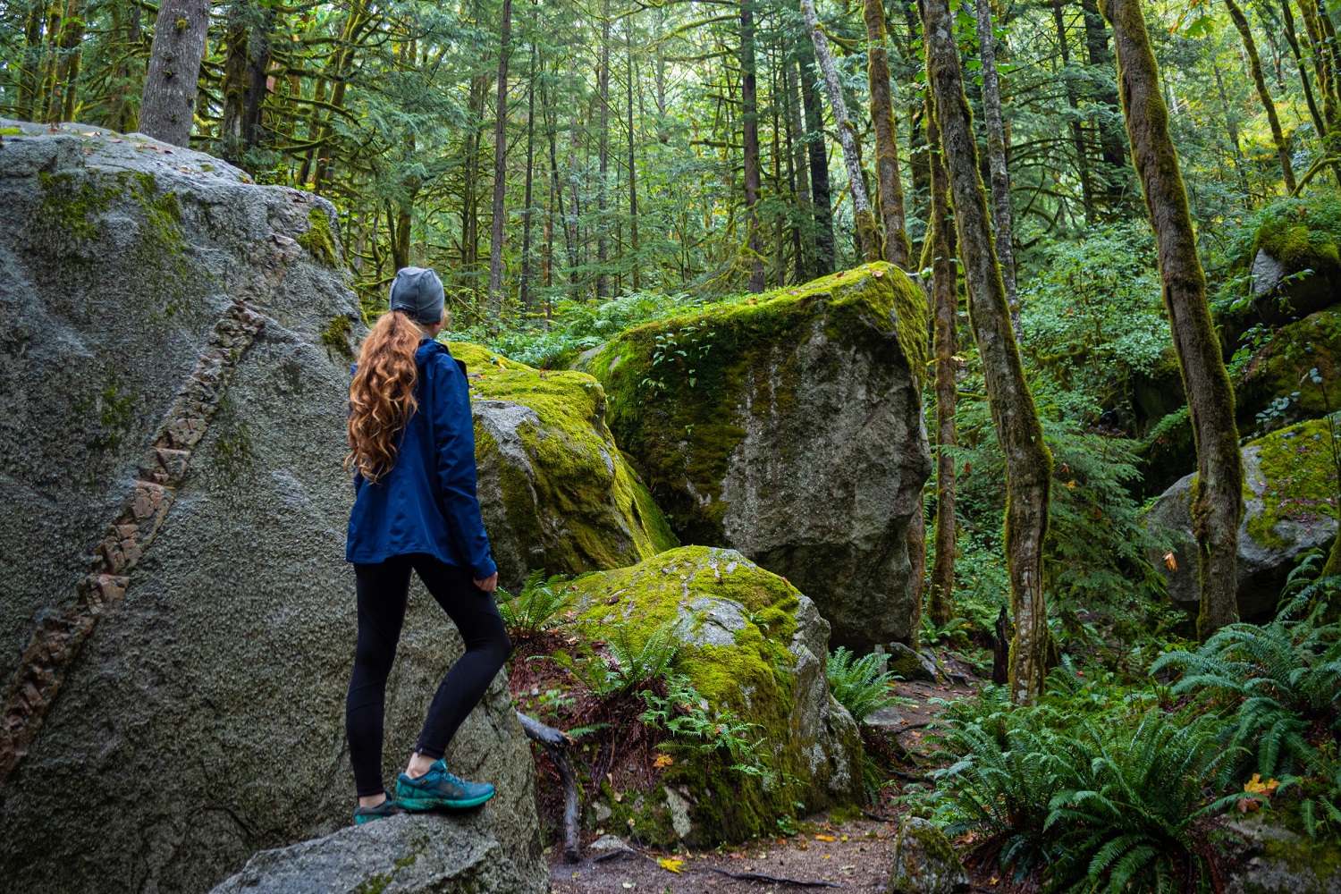
[[[382,791],[386,677],[392,673],[396,643],[405,622],[410,568],[418,572],[465,641],[465,654],[447,672],[428,709],[416,747],[421,755],[443,756],[512,650],[493,596],[475,586],[469,568],[449,566],[422,552],[393,556],[377,564],[355,564],[358,647],[345,698],[345,732],[359,797]]]

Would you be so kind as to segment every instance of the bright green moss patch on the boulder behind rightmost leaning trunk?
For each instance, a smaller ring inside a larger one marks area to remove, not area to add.
[[[1262,512],[1248,519],[1247,524],[1254,541],[1285,547],[1285,537],[1275,532],[1281,521],[1306,524],[1320,516],[1334,517],[1337,474],[1328,420],[1291,425],[1247,446],[1257,448],[1258,464],[1266,478]]]

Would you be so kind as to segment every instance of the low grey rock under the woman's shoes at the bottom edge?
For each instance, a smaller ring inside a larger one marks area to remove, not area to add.
[[[212,894],[540,894],[547,882],[518,870],[480,814],[402,814],[261,851]]]

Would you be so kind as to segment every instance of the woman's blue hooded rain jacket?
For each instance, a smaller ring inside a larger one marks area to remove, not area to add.
[[[468,567],[483,580],[498,567],[475,493],[475,424],[465,363],[428,336],[414,362],[418,410],[405,424],[396,465],[375,484],[354,476],[345,560],[374,563],[426,552]]]

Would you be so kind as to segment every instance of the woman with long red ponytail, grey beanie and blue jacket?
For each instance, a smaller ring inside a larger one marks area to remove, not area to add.
[[[465,366],[433,340],[445,310],[437,273],[398,271],[390,310],[363,339],[349,389],[346,464],[357,496],[345,559],[357,580],[358,647],[345,729],[355,823],[401,810],[476,807],[493,796],[492,785],[464,781],[443,761],[512,649],[489,595],[498,568],[475,495]],[[410,570],[461,631],[465,654],[443,678],[393,796],[382,788],[382,717]]]

